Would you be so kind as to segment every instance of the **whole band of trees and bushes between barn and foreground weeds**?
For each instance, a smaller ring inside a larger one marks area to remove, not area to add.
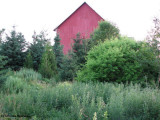
[[[137,42],[122,37],[114,24],[102,21],[89,39],[83,39],[77,33],[67,55],[63,54],[58,34],[52,46],[45,32],[35,32],[33,43],[27,43],[23,34],[15,29],[2,39],[3,29],[0,32],[1,71],[6,71],[4,68],[18,71],[26,67],[57,81],[157,81],[160,24],[158,19],[154,22],[156,27],[148,42]]]

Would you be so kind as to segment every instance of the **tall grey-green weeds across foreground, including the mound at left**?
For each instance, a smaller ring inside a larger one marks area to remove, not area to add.
[[[159,120],[159,89],[112,83],[46,84],[22,69],[0,94],[0,116],[44,120]]]

